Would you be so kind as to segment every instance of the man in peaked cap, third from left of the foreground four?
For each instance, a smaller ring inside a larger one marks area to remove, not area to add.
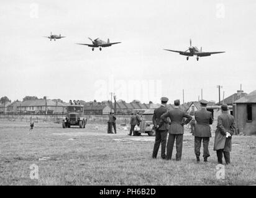
[[[196,154],[196,161],[200,161],[200,149],[201,142],[203,140],[204,147],[204,161],[207,161],[207,158],[210,156],[209,153],[209,140],[211,137],[211,127],[210,124],[213,124],[213,116],[210,111],[206,110],[208,101],[200,100],[201,109],[194,113],[194,118],[196,119],[196,126],[194,127],[194,153]]]

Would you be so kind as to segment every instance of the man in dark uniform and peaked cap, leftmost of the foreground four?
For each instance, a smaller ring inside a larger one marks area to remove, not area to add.
[[[163,113],[167,112],[167,97],[161,98],[161,106],[154,110],[153,112],[153,125],[155,127],[155,144],[153,146],[153,158],[157,158],[158,149],[161,144],[161,157],[162,159],[166,158],[165,150],[166,150],[166,144],[167,144],[167,131],[168,131],[168,121],[167,119],[164,120],[164,123],[161,127],[159,127],[160,124],[160,117]]]

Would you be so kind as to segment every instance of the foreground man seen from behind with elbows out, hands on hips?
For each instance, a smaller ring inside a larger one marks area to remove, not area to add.
[[[182,143],[184,134],[184,125],[190,123],[192,117],[186,114],[185,111],[180,110],[180,100],[174,101],[174,110],[167,111],[167,113],[162,114],[159,127],[165,123],[167,118],[171,120],[171,126],[169,128],[169,137],[167,142],[167,160],[171,160],[171,155],[173,153],[173,145],[176,139],[176,160],[181,160],[182,154]],[[183,118],[187,118],[183,123]]]

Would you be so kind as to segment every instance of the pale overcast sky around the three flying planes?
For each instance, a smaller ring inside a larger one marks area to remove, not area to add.
[[[256,89],[256,1],[0,1],[0,97],[218,101]],[[62,34],[50,41],[43,36]],[[91,51],[88,37],[122,43]],[[199,58],[164,51],[226,51]]]

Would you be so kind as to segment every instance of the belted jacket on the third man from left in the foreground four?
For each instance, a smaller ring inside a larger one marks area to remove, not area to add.
[[[196,126],[194,127],[193,136],[211,137],[210,124],[213,124],[213,116],[210,111],[202,108],[195,112]]]

